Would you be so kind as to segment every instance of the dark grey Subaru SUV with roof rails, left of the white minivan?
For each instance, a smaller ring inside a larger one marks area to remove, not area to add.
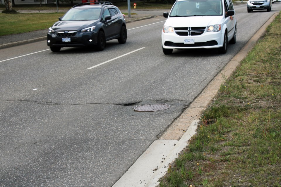
[[[49,28],[47,45],[53,52],[62,47],[95,46],[102,51],[106,41],[126,43],[124,15],[110,2],[79,3]]]

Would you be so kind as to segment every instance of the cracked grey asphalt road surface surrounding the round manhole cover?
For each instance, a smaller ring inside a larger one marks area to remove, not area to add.
[[[128,23],[127,43],[100,52],[52,53],[46,41],[1,49],[0,186],[112,186],[280,8],[236,6],[237,43],[223,55],[165,56],[162,17]],[[148,103],[171,108],[133,111]]]

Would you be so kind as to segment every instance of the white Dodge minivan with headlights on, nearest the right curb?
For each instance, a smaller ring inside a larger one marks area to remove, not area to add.
[[[177,0],[162,30],[164,54],[173,49],[218,48],[236,43],[236,16],[231,0]]]

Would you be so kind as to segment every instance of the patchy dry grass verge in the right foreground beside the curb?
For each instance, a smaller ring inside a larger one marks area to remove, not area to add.
[[[159,187],[281,186],[280,14],[225,77]]]

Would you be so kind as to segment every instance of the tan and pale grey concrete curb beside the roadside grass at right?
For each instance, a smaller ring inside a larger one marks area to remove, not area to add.
[[[164,176],[169,165],[178,157],[178,154],[188,145],[188,141],[196,133],[199,117],[203,110],[229,77],[240,64],[252,47],[261,38],[266,27],[278,15],[275,13],[267,22],[254,34],[247,44],[235,55],[232,60],[214,77],[214,79],[195,98],[191,105],[181,114],[165,133],[155,140],[147,150],[136,160],[127,172],[112,187],[155,187],[160,177]],[[197,120],[194,118],[197,117]],[[193,119],[193,120],[192,120]],[[191,121],[191,122],[190,122]],[[188,128],[188,129],[187,129]],[[183,130],[187,131],[183,134]],[[176,134],[176,136],[174,135]],[[180,136],[180,137],[179,137]],[[179,141],[177,140],[179,139]]]

